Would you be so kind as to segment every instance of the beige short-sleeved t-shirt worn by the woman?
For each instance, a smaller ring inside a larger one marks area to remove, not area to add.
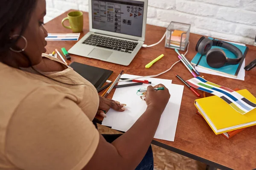
[[[70,67],[42,73],[60,82],[27,71],[0,62],[0,170],[81,170],[99,143],[96,89]]]

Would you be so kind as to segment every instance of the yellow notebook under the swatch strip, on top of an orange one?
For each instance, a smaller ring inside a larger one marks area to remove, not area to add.
[[[256,98],[249,91],[237,92],[256,103]],[[195,106],[216,135],[256,125],[256,109],[242,115],[218,96],[196,99]]]

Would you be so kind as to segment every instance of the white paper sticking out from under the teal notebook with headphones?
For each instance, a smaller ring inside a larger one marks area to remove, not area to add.
[[[245,77],[244,67],[245,67],[245,59],[244,59],[244,62],[242,63],[242,65],[241,65],[241,68],[240,68],[239,73],[237,74],[236,78],[235,77],[230,77],[230,76],[227,76],[227,75],[224,75],[224,74],[216,73],[214,71],[209,71],[207,69],[196,67],[196,66],[195,66],[195,69],[200,73],[212,74],[212,75],[216,75],[216,76],[227,77],[227,78],[231,78],[231,79],[239,79],[239,80],[244,81],[244,77]]]

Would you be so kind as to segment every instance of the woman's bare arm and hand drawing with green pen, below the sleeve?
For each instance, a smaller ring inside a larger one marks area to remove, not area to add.
[[[100,136],[98,147],[84,170],[134,170],[148,150],[169,97],[167,88],[154,91],[149,86],[147,110],[126,133],[111,144]]]

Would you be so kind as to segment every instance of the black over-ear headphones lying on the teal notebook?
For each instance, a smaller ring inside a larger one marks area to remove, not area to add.
[[[225,52],[222,49],[212,48],[212,46],[226,48],[227,50],[234,53],[237,58],[227,58]],[[198,40],[198,43],[195,46],[195,51],[198,51],[198,53],[202,56],[206,54],[207,64],[212,68],[220,68],[224,66],[225,63],[231,65],[238,64],[243,57],[241,50],[239,50],[239,48],[237,48],[236,46],[220,40],[210,40],[209,38],[206,38],[204,36]]]

